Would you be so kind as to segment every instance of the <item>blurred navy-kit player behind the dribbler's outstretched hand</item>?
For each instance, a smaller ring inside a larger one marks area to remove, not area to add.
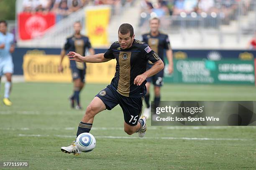
[[[94,55],[94,49],[90,43],[88,37],[81,35],[80,31],[82,29],[82,25],[79,22],[74,23],[74,35],[68,37],[64,48],[61,50],[61,60],[59,65],[59,71],[63,71],[62,61],[64,56],[67,54],[66,52],[75,51],[80,55],[85,55],[85,49],[88,48],[91,55]],[[72,70],[72,78],[74,82],[74,92],[69,100],[71,102],[71,107],[74,108],[75,102],[77,103],[76,109],[82,109],[80,105],[80,92],[84,87],[85,82],[85,74],[86,74],[86,65],[85,63],[70,61],[70,69]]]

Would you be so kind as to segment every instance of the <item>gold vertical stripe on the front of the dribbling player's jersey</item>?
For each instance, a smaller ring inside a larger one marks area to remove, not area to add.
[[[131,52],[119,53],[119,81],[118,92],[129,97],[131,81]]]

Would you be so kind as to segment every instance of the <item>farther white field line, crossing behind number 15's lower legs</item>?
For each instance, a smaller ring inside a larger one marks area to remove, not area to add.
[[[254,129],[256,126],[168,126],[168,127],[152,127],[148,130],[204,130],[204,129]],[[75,127],[67,128],[0,128],[0,130],[76,130]],[[93,127],[92,130],[123,130],[123,128],[106,128]]]

